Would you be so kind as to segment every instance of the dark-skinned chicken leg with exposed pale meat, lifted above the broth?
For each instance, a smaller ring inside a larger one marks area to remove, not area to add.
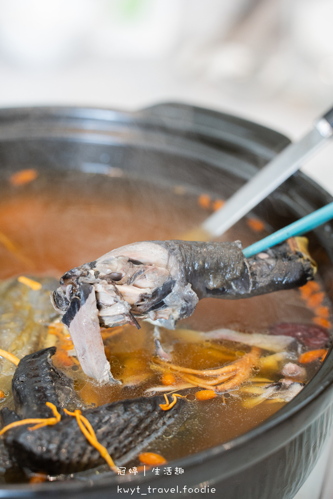
[[[66,272],[53,293],[83,371],[116,382],[99,325],[149,318],[169,328],[191,315],[204,297],[246,298],[290,289],[312,279],[316,267],[293,238],[246,259],[239,242],[154,241],[127,245]]]

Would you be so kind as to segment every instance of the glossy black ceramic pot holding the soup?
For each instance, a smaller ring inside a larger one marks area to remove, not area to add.
[[[137,113],[86,108],[0,111],[1,175],[31,166],[97,173],[105,173],[111,166],[160,182],[172,179],[175,184],[228,198],[288,143],[283,135],[255,123],[179,104],[157,105]],[[255,213],[279,229],[331,201],[317,184],[297,173]],[[330,295],[333,225],[326,224],[310,239]],[[259,427],[172,463],[185,470],[183,475],[153,479],[151,474],[130,478],[101,475],[91,482],[7,485],[2,486],[0,497],[292,498],[314,467],[330,432],[332,357],[330,352],[302,392]]]

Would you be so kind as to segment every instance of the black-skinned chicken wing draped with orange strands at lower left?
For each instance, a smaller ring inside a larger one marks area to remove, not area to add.
[[[15,412],[0,411],[3,426],[25,418],[53,417],[45,402],[53,403],[61,414],[54,426],[29,431],[31,424],[8,430],[0,437],[6,468],[19,466],[33,472],[51,475],[74,473],[105,463],[99,452],[89,444],[76,418],[67,416],[62,408],[80,407],[73,381],[58,371],[51,356],[55,347],[46,348],[20,360],[12,379]],[[159,404],[162,396],[141,397],[105,404],[82,411],[92,425],[97,440],[107,448],[112,459],[126,461],[159,435],[179,415],[184,400],[178,400],[170,411]]]

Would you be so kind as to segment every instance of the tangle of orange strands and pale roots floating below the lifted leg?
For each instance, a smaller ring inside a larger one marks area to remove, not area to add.
[[[169,390],[184,390],[188,388],[188,386],[197,386],[204,388],[205,390],[198,392],[199,400],[209,400],[210,398],[214,398],[219,393],[226,393],[230,391],[240,390],[243,393],[250,394],[260,394],[262,398],[258,398],[258,403],[264,401],[268,398],[279,399],[280,401],[288,402],[291,400],[301,388],[297,391],[295,386],[293,386],[293,390],[289,390],[288,396],[280,396],[280,397],[271,397],[264,396],[264,388],[270,387],[272,382],[269,379],[265,379],[262,377],[252,377],[254,371],[260,370],[261,372],[271,373],[271,375],[276,376],[277,374],[281,374],[286,379],[284,382],[289,385],[290,383],[298,382],[301,383],[301,387],[304,386],[304,381],[307,377],[306,370],[304,367],[296,364],[295,362],[290,362],[291,360],[299,360],[302,362],[303,357],[305,358],[307,354],[311,354],[312,352],[303,353],[298,359],[297,351],[302,350],[302,346],[298,344],[294,339],[288,336],[275,336],[270,337],[269,335],[259,334],[259,333],[239,333],[232,330],[218,330],[212,331],[208,333],[198,333],[201,336],[202,341],[207,344],[207,339],[211,340],[228,340],[236,342],[241,342],[243,345],[251,345],[251,350],[249,352],[244,352],[241,350],[231,350],[229,349],[229,354],[234,355],[236,359],[223,367],[213,368],[213,369],[193,369],[188,368],[181,365],[176,365],[171,363],[170,361],[164,358],[154,358],[154,364],[151,365],[151,368],[156,371],[160,371],[163,373],[163,376],[167,375],[176,375],[179,379],[178,384],[174,383],[174,386],[169,386]],[[263,340],[264,338],[264,340]],[[272,339],[270,343],[269,339]],[[237,343],[236,343],[237,344]],[[254,346],[256,345],[256,346]],[[214,345],[213,345],[214,346]],[[292,347],[292,350],[282,351],[283,348]],[[266,352],[265,352],[266,350]],[[271,355],[267,355],[267,351],[278,350],[278,353],[274,353]],[[327,351],[325,350],[324,353]],[[322,352],[323,355],[323,352]],[[319,353],[317,354],[318,358]],[[241,357],[237,360],[237,357]],[[229,359],[228,359],[229,360]],[[161,379],[162,381],[162,379]],[[280,380],[281,381],[281,380]],[[289,383],[290,381],[290,383]],[[163,381],[162,381],[163,382]],[[189,385],[184,385],[184,383],[188,383]],[[251,382],[249,385],[248,382]],[[264,385],[262,384],[264,382]],[[255,386],[258,386],[256,388]],[[286,384],[285,383],[285,384]],[[254,386],[254,384],[256,384]],[[243,386],[245,385],[245,386]],[[272,385],[273,386],[273,385]],[[275,385],[274,385],[275,386]],[[165,387],[156,386],[147,391],[161,392],[165,391]],[[271,393],[268,391],[267,393]],[[275,392],[274,392],[275,393]],[[252,404],[250,401],[249,404],[245,403],[245,407],[253,407],[256,404]]]

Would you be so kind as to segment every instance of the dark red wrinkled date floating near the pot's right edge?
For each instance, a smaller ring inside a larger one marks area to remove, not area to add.
[[[324,348],[330,341],[330,335],[324,327],[315,324],[297,324],[281,322],[270,329],[270,334],[293,336],[308,348]]]

